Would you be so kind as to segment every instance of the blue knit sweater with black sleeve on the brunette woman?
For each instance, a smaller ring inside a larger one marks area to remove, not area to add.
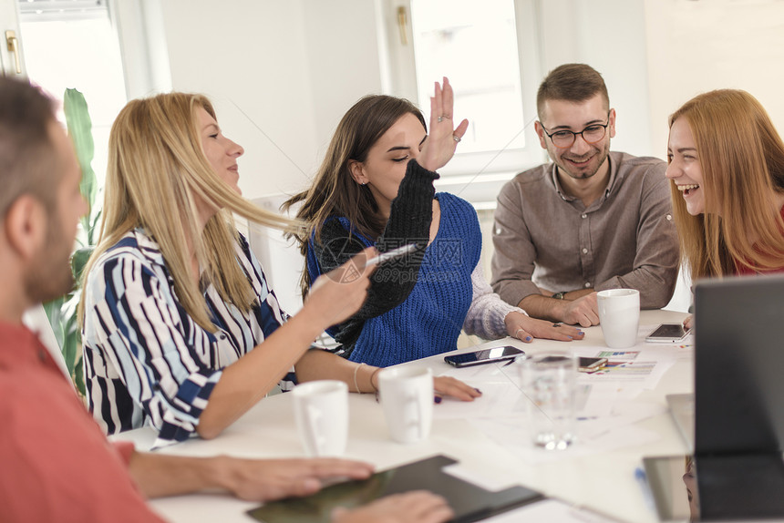
[[[432,192],[427,196],[427,187],[432,191],[432,179],[425,172],[407,174],[400,189],[406,194],[398,195],[393,204],[387,231],[377,243],[379,250],[387,251],[390,243],[411,241],[398,227],[401,220],[409,231],[418,232],[415,237],[427,234],[429,217],[414,220],[425,209],[429,214],[432,207],[433,196]],[[387,366],[455,349],[473,298],[471,272],[480,259],[481,231],[476,211],[467,201],[449,193],[436,198],[441,219],[435,240],[427,249],[427,240],[423,240],[419,256],[380,266],[362,309],[345,323],[328,329],[344,344],[344,355],[350,360]],[[421,223],[409,227],[412,220]],[[325,222],[321,241],[312,239],[307,252],[311,281],[344,262],[352,252],[374,244],[356,232],[349,234],[350,229],[346,218],[335,218]],[[383,248],[382,240],[387,244]]]

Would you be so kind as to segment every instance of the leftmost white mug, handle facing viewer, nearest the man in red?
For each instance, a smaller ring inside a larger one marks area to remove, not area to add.
[[[348,440],[348,385],[319,380],[297,385],[294,421],[307,456],[343,456]]]

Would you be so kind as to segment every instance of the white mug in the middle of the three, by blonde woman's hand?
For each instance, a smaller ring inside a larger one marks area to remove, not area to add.
[[[433,373],[428,368],[397,367],[378,373],[378,394],[389,435],[398,443],[428,438],[433,423]]]

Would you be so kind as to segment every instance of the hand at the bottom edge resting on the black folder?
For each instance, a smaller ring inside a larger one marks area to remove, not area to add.
[[[382,497],[354,510],[335,508],[332,523],[442,523],[453,515],[443,497],[412,490]]]

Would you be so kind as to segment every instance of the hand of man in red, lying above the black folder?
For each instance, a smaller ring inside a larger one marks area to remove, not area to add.
[[[361,461],[338,458],[238,459],[216,457],[216,473],[223,486],[236,497],[270,501],[318,492],[322,480],[330,477],[366,479],[373,466]]]

